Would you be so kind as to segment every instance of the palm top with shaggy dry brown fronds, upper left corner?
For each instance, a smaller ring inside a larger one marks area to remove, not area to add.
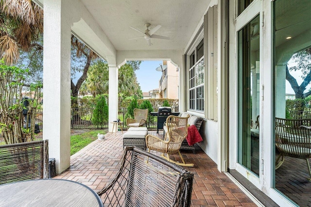
[[[19,49],[43,49],[36,41],[43,33],[43,11],[31,0],[0,1],[0,56],[7,65],[19,58]]]

